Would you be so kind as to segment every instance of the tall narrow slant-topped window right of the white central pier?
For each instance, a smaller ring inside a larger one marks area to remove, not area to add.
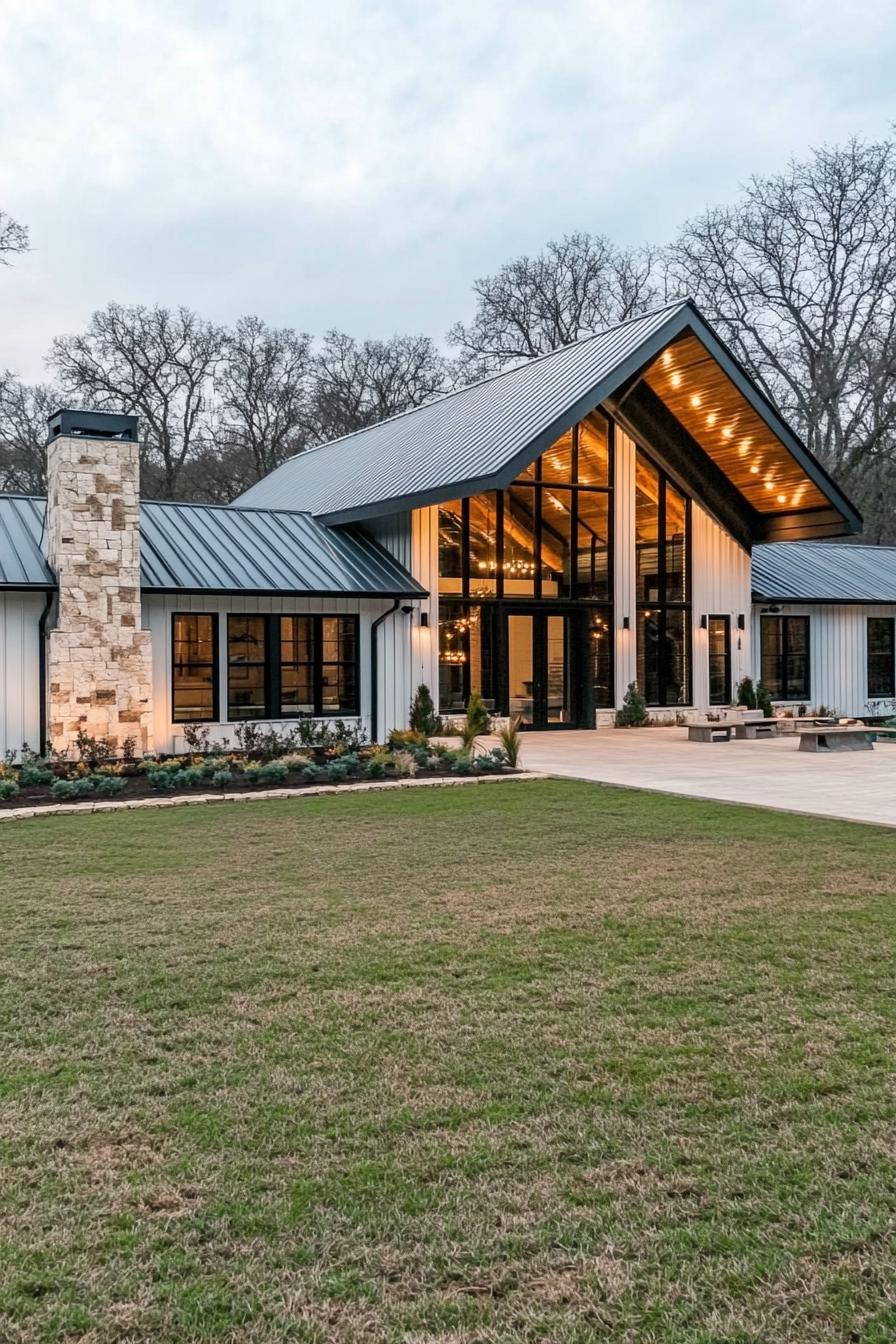
[[[635,461],[637,672],[647,704],[690,704],[690,500]]]

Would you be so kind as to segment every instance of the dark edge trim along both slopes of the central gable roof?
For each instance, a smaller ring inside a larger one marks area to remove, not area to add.
[[[697,306],[690,301],[682,304],[681,308],[677,308],[673,313],[670,313],[669,319],[662,323],[662,325],[658,327],[657,331],[641,345],[638,345],[635,351],[617,364],[613,372],[599,379],[587,392],[571,403],[562,415],[559,415],[540,434],[531,439],[525,448],[505,462],[500,470],[490,472],[485,476],[467,477],[466,480],[455,480],[447,485],[433,487],[424,491],[410,491],[406,495],[396,495],[390,499],[334,509],[332,512],[321,511],[316,516],[328,524],[361,523],[369,519],[383,517],[388,513],[400,513],[404,509],[427,508],[433,504],[443,504],[446,500],[457,499],[458,496],[480,495],[484,491],[504,489],[519,476],[523,468],[528,466],[529,462],[549,448],[551,444],[560,437],[560,434],[566,433],[566,430],[587,415],[588,411],[592,411],[596,406],[611,398],[621,388],[634,386],[638,382],[638,378],[665,349],[665,347],[672,344],[678,336],[684,336],[688,332],[692,332],[704,344],[707,351],[732,380],[737,391],[768,425],[771,431],[780,439],[787,452],[799,464],[801,469],[806,473],[806,476],[809,476],[813,484],[817,485],[818,489],[827,497],[833,512],[837,515],[836,526],[832,524],[832,530],[825,532],[801,534],[791,532],[787,528],[758,528],[755,540],[770,540],[774,536],[783,539],[783,534],[786,534],[790,539],[797,539],[798,535],[845,536],[860,532],[862,528],[862,517],[858,509],[844,495],[821,464],[817,462],[809,450],[801,444],[798,437],[782,419],[772,403],[740,368],[736,358],[724,341],[721,341],[712,332]],[[751,508],[746,500],[744,504]],[[787,517],[787,515],[770,515],[770,517],[772,516],[782,519]]]

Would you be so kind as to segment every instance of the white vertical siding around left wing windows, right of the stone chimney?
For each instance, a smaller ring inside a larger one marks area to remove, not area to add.
[[[153,665],[153,738],[156,751],[183,751],[185,749],[184,726],[172,722],[172,617],[179,612],[218,614],[218,669],[219,706],[222,715],[227,712],[227,616],[359,616],[359,679],[360,679],[360,719],[365,732],[371,726],[371,626],[377,616],[388,612],[387,598],[290,598],[290,597],[211,597],[201,593],[144,594],[142,624],[152,632]],[[400,679],[402,667],[410,667],[407,653],[402,656],[402,640],[407,642],[410,617],[396,612],[388,616],[380,626],[380,719],[377,737],[383,738],[391,727],[407,719],[407,704],[402,699],[403,719],[394,719],[392,702],[398,702],[398,691],[392,687],[392,665],[395,680]],[[399,622],[398,630],[390,626]],[[395,664],[392,657],[395,656]],[[406,677],[407,684],[407,677]],[[343,715],[348,722],[349,716]],[[290,719],[259,720],[263,727],[286,728]],[[235,738],[236,724],[222,719],[207,724],[212,741]]]

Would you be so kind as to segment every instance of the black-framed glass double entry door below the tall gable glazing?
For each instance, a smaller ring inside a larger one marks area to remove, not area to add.
[[[570,617],[508,616],[508,700],[524,728],[570,727]]]

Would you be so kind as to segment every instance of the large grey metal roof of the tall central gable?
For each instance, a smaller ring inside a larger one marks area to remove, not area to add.
[[[848,526],[861,517],[690,300],[629,319],[571,345],[297,454],[235,503],[302,508],[349,523],[501,489],[584,414],[692,331]]]

